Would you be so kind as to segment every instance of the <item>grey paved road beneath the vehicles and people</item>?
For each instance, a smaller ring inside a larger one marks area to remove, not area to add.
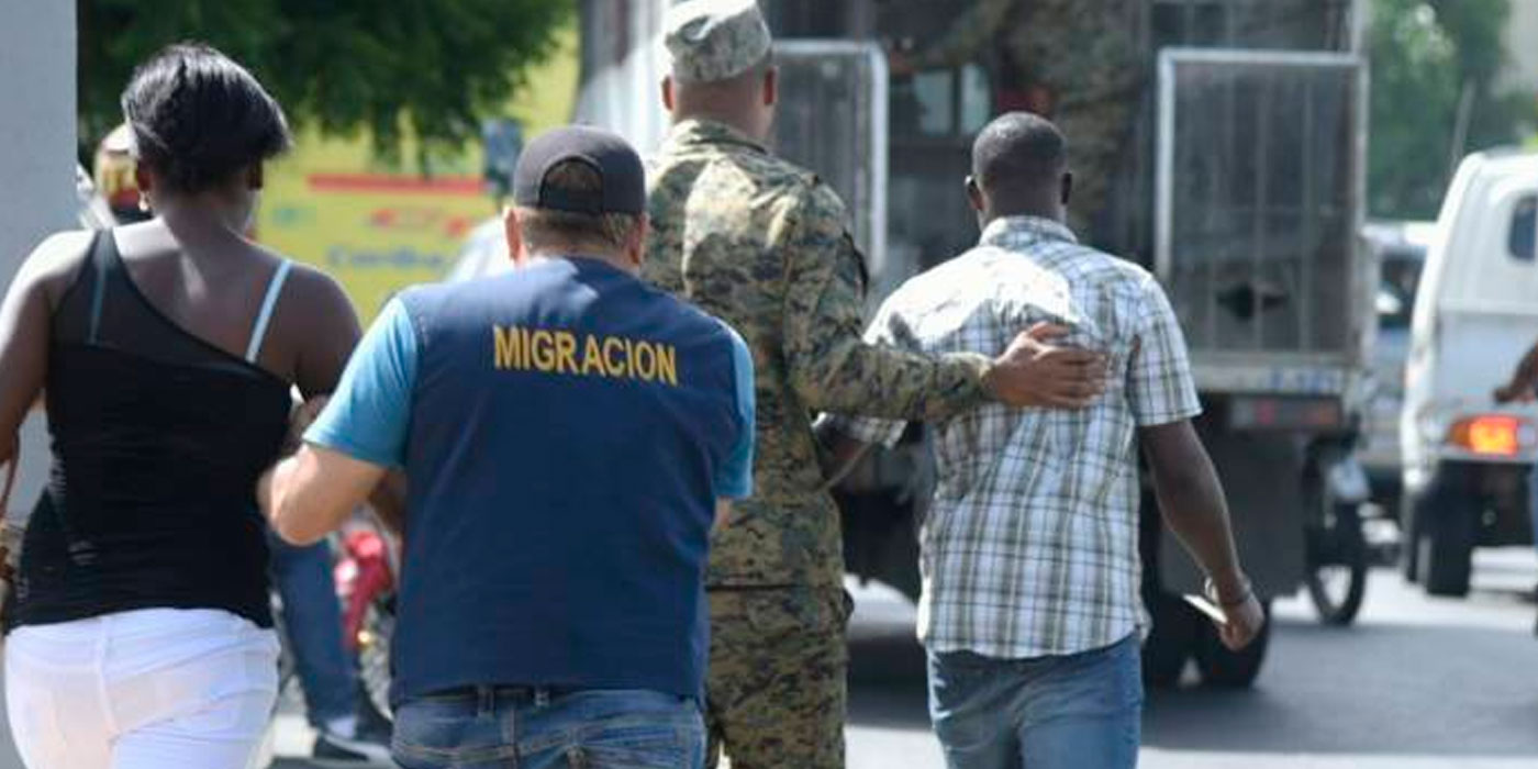
[[[1184,687],[1150,697],[1146,769],[1506,769],[1538,766],[1538,640],[1526,549],[1480,554],[1469,600],[1429,600],[1392,571],[1372,577],[1350,629],[1327,629],[1301,600],[1277,606],[1255,691]],[[940,769],[924,715],[914,611],[863,589],[851,631],[851,769]],[[0,720],[3,721],[3,720]],[[300,755],[297,715],[280,755]],[[309,767],[297,758],[275,769]],[[20,769],[0,726],[0,769]]]

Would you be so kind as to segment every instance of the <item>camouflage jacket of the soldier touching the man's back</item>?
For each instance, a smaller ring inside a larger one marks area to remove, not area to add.
[[[863,343],[864,269],[843,203],[741,134],[680,123],[647,177],[646,278],[731,323],[754,354],[755,495],[714,534],[707,583],[840,584],[838,511],[812,414],[957,414],[984,398],[987,358]]]

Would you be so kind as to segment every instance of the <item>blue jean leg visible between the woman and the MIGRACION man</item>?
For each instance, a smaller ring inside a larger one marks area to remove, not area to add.
[[[325,541],[295,548],[277,537],[272,581],[283,598],[283,629],[305,689],[306,718],[320,727],[357,715],[357,669],[341,640],[341,601]]]

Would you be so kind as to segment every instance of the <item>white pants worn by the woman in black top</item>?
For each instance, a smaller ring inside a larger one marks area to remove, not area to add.
[[[5,644],[28,769],[246,769],[277,698],[272,631],[214,609],[28,626]]]

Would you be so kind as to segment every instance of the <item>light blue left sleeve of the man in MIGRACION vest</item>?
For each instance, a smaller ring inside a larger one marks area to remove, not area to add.
[[[369,464],[403,466],[415,384],[417,329],[395,298],[363,335],[305,440]]]

